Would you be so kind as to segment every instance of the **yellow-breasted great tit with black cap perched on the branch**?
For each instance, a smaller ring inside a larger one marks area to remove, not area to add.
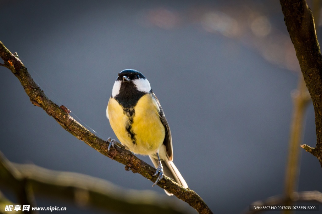
[[[126,149],[148,155],[156,167],[156,185],[164,175],[188,188],[173,163],[172,137],[160,102],[147,78],[137,70],[118,73],[106,108],[109,123]],[[109,149],[115,140],[109,137]],[[165,190],[166,194],[173,195]]]

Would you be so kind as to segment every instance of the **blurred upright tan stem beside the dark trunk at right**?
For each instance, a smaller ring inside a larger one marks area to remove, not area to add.
[[[305,86],[303,76],[299,76],[298,89],[292,92],[293,115],[291,121],[289,138],[289,156],[285,175],[285,205],[292,204],[291,195],[297,191],[299,175],[299,146],[303,139],[305,110],[311,100],[308,89]],[[292,210],[284,210],[285,214],[292,213]]]

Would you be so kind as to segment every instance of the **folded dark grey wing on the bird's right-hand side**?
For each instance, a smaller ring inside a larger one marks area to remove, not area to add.
[[[171,131],[170,131],[170,127],[168,124],[168,121],[166,121],[166,116],[164,115],[163,109],[160,105],[160,102],[158,100],[158,98],[156,97],[156,95],[152,92],[152,96],[156,99],[156,102],[159,105],[159,116],[160,116],[160,120],[162,122],[162,124],[165,127],[166,130],[166,136],[164,138],[163,144],[166,146],[166,154],[169,156],[169,160],[173,161],[173,150],[172,150],[172,137],[171,137]]]

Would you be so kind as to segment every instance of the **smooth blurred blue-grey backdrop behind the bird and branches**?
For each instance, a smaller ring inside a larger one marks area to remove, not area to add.
[[[0,4],[0,40],[18,53],[45,94],[85,127],[105,140],[117,139],[106,106],[117,73],[136,69],[164,109],[175,165],[214,213],[239,213],[283,193],[291,92],[300,70],[279,1]],[[10,161],[165,195],[66,132],[31,104],[7,68],[0,67],[0,73],[0,150]],[[311,103],[303,141],[316,145]],[[322,191],[317,158],[300,152],[298,191]],[[151,164],[148,157],[139,158]],[[5,194],[15,201],[12,193]],[[37,206],[63,204],[68,213],[102,212],[46,197],[36,201]]]

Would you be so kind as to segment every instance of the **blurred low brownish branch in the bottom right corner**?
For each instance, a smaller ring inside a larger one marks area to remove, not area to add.
[[[322,204],[322,193],[318,191],[307,191],[307,192],[293,192],[290,195],[290,199],[293,202],[316,202],[319,204]],[[285,204],[285,202],[289,200],[284,195],[275,195],[272,196],[265,201],[255,201],[251,203],[251,205],[256,206],[274,206],[279,204]],[[254,213],[260,213],[265,212],[267,210],[249,210],[249,207],[247,210],[245,210],[244,214],[254,214]]]

